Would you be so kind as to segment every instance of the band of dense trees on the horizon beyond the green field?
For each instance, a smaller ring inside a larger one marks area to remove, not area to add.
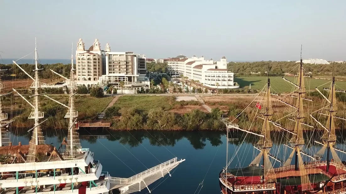
[[[297,73],[295,68],[299,63],[295,61],[257,61],[257,62],[229,62],[227,69],[238,75],[263,76],[267,75],[268,65],[271,76],[281,76],[283,73]],[[306,72],[312,72],[313,75],[330,75],[333,72],[333,63],[327,64],[303,64]],[[295,69],[295,71],[292,71]],[[251,72],[261,72],[259,74],[251,74]],[[335,75],[346,75],[345,64],[334,63]]]

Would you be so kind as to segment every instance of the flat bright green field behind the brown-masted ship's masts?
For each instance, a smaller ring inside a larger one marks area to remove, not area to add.
[[[272,89],[274,90],[272,92],[287,93],[293,90],[294,86],[290,84],[289,82],[283,80],[282,77],[269,77],[269,78],[270,78]],[[285,76],[285,78],[292,82],[295,82],[295,79],[297,79],[297,77],[290,77],[290,76]],[[267,82],[267,77],[265,76],[235,77],[234,81],[238,82],[241,88],[251,84],[251,89],[261,90],[264,87],[265,83]],[[305,78],[304,81],[305,81],[306,89],[314,90],[314,91],[316,87],[329,82],[329,80],[317,80],[317,79],[310,79],[310,78]],[[346,82],[336,81],[335,84],[339,88],[346,89]],[[321,87],[328,88],[329,86],[330,84],[328,83]]]

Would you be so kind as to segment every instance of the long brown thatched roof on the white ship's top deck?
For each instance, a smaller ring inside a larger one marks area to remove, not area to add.
[[[0,155],[15,155],[18,153],[18,150],[22,154],[28,154],[29,152],[29,145],[21,145],[19,142],[19,145],[12,145],[11,143],[8,146],[1,146],[0,147]],[[39,144],[36,146],[36,153],[52,153],[54,150],[53,145],[48,144]]]

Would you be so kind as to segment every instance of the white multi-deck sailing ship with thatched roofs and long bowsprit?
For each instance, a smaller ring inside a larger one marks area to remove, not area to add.
[[[28,130],[28,132],[32,131],[29,145],[21,145],[20,142],[19,145],[12,145],[9,141],[9,132],[4,127],[14,120],[6,122],[8,115],[3,113],[0,98],[0,155],[7,159],[6,162],[0,164],[0,193],[108,194],[115,192],[128,194],[145,188],[150,193],[149,184],[164,177],[166,174],[171,175],[170,171],[184,161],[177,160],[175,157],[129,178],[112,177],[107,171],[104,171],[101,162],[94,159],[94,153],[88,148],[83,148],[79,140],[78,125],[76,125],[78,111],[76,111],[74,103],[77,84],[75,82],[75,69],[73,68],[73,51],[70,78],[65,78],[51,70],[66,80],[67,88],[69,89],[68,105],[58,102],[45,94],[38,93],[38,89],[42,87],[38,72],[42,69],[38,69],[37,65],[36,43],[34,77],[30,76],[15,61],[13,63],[33,80],[31,89],[34,90],[34,94],[30,96],[30,98],[33,98],[33,102],[29,102],[16,89],[13,89],[13,92],[18,94],[32,107],[29,119],[34,119],[35,124]],[[0,90],[3,88],[4,83],[0,81]],[[65,147],[64,151],[45,144],[43,130],[40,125],[47,119],[40,122],[40,119],[44,119],[44,112],[41,112],[39,108],[38,97],[40,95],[44,95],[46,98],[67,108],[65,118],[69,120],[69,129],[67,141],[64,138],[62,142]]]

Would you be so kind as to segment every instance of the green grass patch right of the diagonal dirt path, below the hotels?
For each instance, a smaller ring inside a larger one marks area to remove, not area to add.
[[[137,106],[137,108],[145,111],[157,108],[169,110],[170,101],[172,101],[170,96],[121,96],[114,105],[122,109]]]

